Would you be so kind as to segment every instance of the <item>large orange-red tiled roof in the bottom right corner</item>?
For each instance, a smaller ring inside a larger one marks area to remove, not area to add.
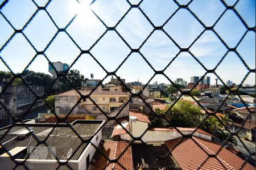
[[[214,155],[221,147],[218,143],[205,139],[192,137],[208,154]],[[166,145],[171,150],[180,138],[167,141]],[[172,151],[172,155],[182,169],[197,169],[208,155],[192,139],[183,139]],[[189,159],[188,159],[189,158]],[[220,163],[221,162],[221,163]],[[222,148],[217,158],[210,157],[200,169],[239,169],[244,161],[232,152]],[[224,168],[224,167],[225,168]],[[244,169],[255,169],[246,163]]]

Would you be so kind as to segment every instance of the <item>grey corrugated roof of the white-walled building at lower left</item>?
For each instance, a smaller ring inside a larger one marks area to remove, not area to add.
[[[82,139],[88,140],[85,142],[82,142],[81,139],[67,124],[26,125],[39,141],[45,141],[48,146],[53,148],[57,159],[67,160],[68,152],[72,150],[73,155],[71,160],[78,160],[90,142],[90,139],[96,134],[96,131],[102,122],[103,121],[101,120],[77,120],[72,122],[72,124],[69,124]],[[27,131],[27,133],[20,135],[24,131]],[[7,134],[4,135],[5,133]],[[47,138],[48,135],[49,137]],[[55,156],[51,155],[51,152],[46,147],[47,145],[38,145],[35,137],[33,137],[31,133],[28,133],[26,126],[21,123],[13,124],[11,126],[6,126],[5,128],[0,129],[0,142],[8,151],[11,151],[16,147],[26,147],[27,152],[30,150],[30,148],[39,148],[36,154],[34,154],[34,152],[33,154],[28,152],[20,156],[20,159],[26,159],[28,157],[28,159],[43,158],[44,160],[55,160]]]

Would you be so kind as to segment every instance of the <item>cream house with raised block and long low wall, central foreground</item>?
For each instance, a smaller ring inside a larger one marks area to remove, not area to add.
[[[146,114],[143,114],[138,111],[129,111],[129,119],[126,118],[125,120],[121,120],[120,124],[115,124],[113,132],[112,132],[112,138],[113,139],[120,139],[123,141],[131,141],[133,137],[141,137],[141,135],[144,133],[142,137],[142,141],[146,143],[162,143],[164,141],[168,141],[171,139],[179,138],[181,137],[181,134],[179,131],[181,131],[183,134],[191,134],[193,131],[195,131],[195,128],[149,128],[148,124],[150,124],[150,120],[148,119]],[[126,130],[124,130],[124,128]],[[179,130],[179,131],[178,131]],[[197,129],[195,132],[193,132],[194,135],[197,137],[205,138],[208,140],[212,140],[214,137],[213,135],[205,132],[204,130]],[[139,141],[137,141],[139,142]]]

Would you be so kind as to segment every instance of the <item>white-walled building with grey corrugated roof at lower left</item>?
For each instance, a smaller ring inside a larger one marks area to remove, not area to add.
[[[15,162],[25,160],[28,169],[56,169],[59,162],[67,163],[72,169],[88,169],[96,151],[94,146],[101,141],[104,120],[76,120],[71,124],[38,124],[35,120],[27,120],[25,124],[16,123],[0,129],[1,145],[4,146],[0,148],[1,169],[13,169]],[[36,139],[45,143],[38,145]],[[59,168],[69,169],[67,166]]]

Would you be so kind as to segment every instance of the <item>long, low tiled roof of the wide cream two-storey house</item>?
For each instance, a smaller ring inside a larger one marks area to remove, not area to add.
[[[82,95],[88,95],[91,91],[90,90],[79,90],[79,92]],[[92,95],[128,95],[128,93],[123,92],[123,91],[108,91],[108,90],[97,91],[96,90],[92,93]],[[63,92],[61,94],[58,94],[56,96],[79,96],[79,94],[75,90],[69,90],[69,91]]]

